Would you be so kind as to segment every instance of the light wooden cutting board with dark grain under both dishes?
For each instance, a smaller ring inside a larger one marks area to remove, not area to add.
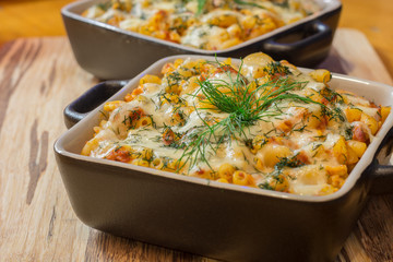
[[[393,81],[362,34],[338,29],[320,66]],[[98,82],[64,37],[17,39],[0,49],[0,261],[213,261],[83,225],[52,152],[63,108]],[[371,196],[336,261],[393,261],[393,194]]]

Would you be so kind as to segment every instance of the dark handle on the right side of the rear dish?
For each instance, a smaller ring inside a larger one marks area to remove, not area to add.
[[[333,35],[329,25],[314,20],[266,39],[262,49],[275,59],[286,59],[298,67],[315,66],[327,57]]]

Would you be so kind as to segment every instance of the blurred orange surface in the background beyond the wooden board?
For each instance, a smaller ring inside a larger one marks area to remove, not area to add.
[[[60,10],[70,2],[73,0],[0,0],[0,47],[20,37],[66,36]],[[338,27],[362,32],[393,75],[393,1],[342,3]]]

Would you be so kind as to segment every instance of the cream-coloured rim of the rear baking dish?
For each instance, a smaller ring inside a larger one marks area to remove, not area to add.
[[[299,20],[299,21],[296,21],[294,23],[284,25],[284,26],[278,27],[278,28],[275,28],[272,32],[265,33],[265,34],[263,34],[261,36],[254,37],[252,39],[240,43],[240,44],[235,45],[233,47],[225,48],[225,49],[219,49],[219,50],[205,50],[205,49],[199,49],[199,48],[194,48],[194,47],[188,47],[188,46],[177,44],[177,43],[171,43],[169,40],[163,40],[163,39],[159,39],[159,38],[156,38],[156,37],[153,37],[153,36],[143,35],[143,34],[132,32],[132,31],[121,29],[118,26],[114,26],[114,25],[109,25],[109,24],[104,23],[104,22],[98,22],[98,21],[95,21],[95,20],[92,20],[92,19],[83,17],[81,14],[78,14],[78,13],[71,11],[71,9],[75,9],[79,5],[86,4],[88,2],[92,2],[92,4],[93,4],[94,2],[103,2],[103,1],[105,1],[105,0],[79,0],[79,1],[69,3],[66,7],[63,7],[61,9],[61,14],[64,15],[64,16],[78,20],[80,22],[93,25],[93,26],[97,26],[97,27],[107,29],[107,31],[111,31],[111,32],[123,34],[123,35],[132,36],[132,37],[143,39],[143,40],[146,40],[146,41],[158,43],[158,44],[162,44],[162,45],[167,46],[169,48],[177,48],[177,49],[182,50],[182,51],[200,53],[200,55],[205,55],[205,56],[221,55],[221,53],[236,51],[238,49],[241,49],[241,48],[251,46],[253,44],[257,44],[259,41],[265,40],[265,39],[267,39],[270,37],[273,37],[275,35],[278,35],[281,33],[284,33],[286,31],[289,31],[291,28],[300,26],[302,24],[307,24],[309,22],[315,21],[319,17],[321,17],[321,16],[323,16],[323,15],[330,13],[330,12],[337,11],[337,10],[340,10],[342,8],[341,0],[315,0],[317,2],[319,2],[319,4],[323,3],[325,5],[325,7],[323,7],[323,9],[320,12],[313,13],[313,14],[308,15],[308,16]]]

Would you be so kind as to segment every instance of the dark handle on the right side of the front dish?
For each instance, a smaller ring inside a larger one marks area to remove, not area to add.
[[[381,143],[377,157],[370,167],[372,194],[393,193],[393,128]]]

